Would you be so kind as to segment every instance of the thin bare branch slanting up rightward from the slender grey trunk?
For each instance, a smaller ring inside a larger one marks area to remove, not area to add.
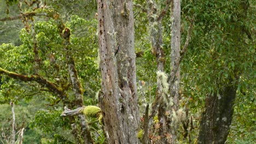
[[[187,38],[186,38],[186,41],[185,41],[185,44],[183,46],[183,49],[179,52],[180,53],[180,56],[178,59],[176,59],[176,67],[173,68],[172,70],[172,75],[170,77],[170,82],[173,82],[174,79],[175,79],[175,76],[176,76],[176,73],[178,71],[178,68],[179,68],[179,65],[181,64],[181,61],[185,55],[185,53],[187,52],[188,50],[188,46],[189,46],[189,42],[190,42],[190,39],[191,39],[191,32],[192,32],[192,29],[193,29],[193,25],[194,25],[194,17],[193,19],[191,20],[190,22],[190,25],[189,25],[189,28],[188,28],[188,34],[187,34]]]

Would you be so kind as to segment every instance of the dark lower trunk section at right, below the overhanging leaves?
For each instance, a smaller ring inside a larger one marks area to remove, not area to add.
[[[225,143],[232,121],[237,87],[225,87],[219,94],[208,95],[202,113],[198,143]]]

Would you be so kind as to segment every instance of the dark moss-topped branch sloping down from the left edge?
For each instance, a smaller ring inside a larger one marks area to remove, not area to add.
[[[0,74],[7,75],[13,79],[18,79],[18,80],[25,81],[25,82],[35,81],[35,82],[39,83],[40,85],[42,85],[43,87],[47,87],[48,89],[50,89],[51,92],[56,93],[61,99],[66,98],[66,94],[64,92],[62,92],[61,88],[57,87],[57,85],[55,85],[55,83],[44,79],[44,77],[42,77],[42,76],[21,75],[21,74],[13,73],[12,71],[8,71],[8,70],[2,69],[2,68],[0,68]]]

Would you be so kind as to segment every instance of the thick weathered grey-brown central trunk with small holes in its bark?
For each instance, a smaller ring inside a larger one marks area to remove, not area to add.
[[[98,0],[102,93],[109,143],[139,143],[133,12],[131,0]]]

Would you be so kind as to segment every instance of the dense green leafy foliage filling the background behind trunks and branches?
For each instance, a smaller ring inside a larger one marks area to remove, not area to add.
[[[46,1],[48,2],[48,1]],[[156,1],[158,9],[165,1]],[[144,7],[146,1],[134,1]],[[43,3],[42,3],[43,4]],[[26,4],[24,4],[26,5]],[[182,1],[182,45],[188,26],[195,19],[193,34],[187,54],[181,63],[181,108],[186,105],[187,118],[193,118],[191,139],[196,140],[200,115],[209,93],[218,93],[227,85],[237,85],[234,116],[228,143],[253,143],[256,141],[255,99],[255,1]],[[24,12],[33,9],[24,6]],[[8,13],[7,12],[8,9]],[[74,99],[68,79],[67,53],[72,55],[78,77],[84,90],[84,105],[97,105],[100,91],[98,71],[98,39],[96,1],[51,1],[40,13],[58,12],[65,26],[71,29],[72,49],[65,50],[60,35],[60,23],[53,17],[29,17],[0,22],[0,68],[15,73],[35,73],[34,43],[38,45],[40,70],[38,74],[65,89],[69,99]],[[152,54],[148,15],[134,7],[135,48],[143,52],[136,58],[140,112],[151,105],[156,91],[156,61]],[[0,19],[19,15],[16,1],[0,1]],[[170,11],[162,22],[163,49],[166,53],[165,72],[170,73]],[[57,16],[57,15],[56,15]],[[55,93],[36,82],[24,82],[0,74],[0,133],[11,134],[10,101],[15,102],[16,130],[25,128],[24,143],[74,143],[68,118],[60,117],[63,105]],[[141,85],[139,84],[141,83]],[[188,102],[188,105],[186,104]],[[100,121],[100,122],[99,122]],[[104,143],[103,123],[95,117],[87,122],[96,143]],[[154,118],[155,127],[158,118]],[[188,143],[180,129],[180,143]],[[141,137],[141,135],[140,135]],[[0,136],[0,142],[5,138]]]

